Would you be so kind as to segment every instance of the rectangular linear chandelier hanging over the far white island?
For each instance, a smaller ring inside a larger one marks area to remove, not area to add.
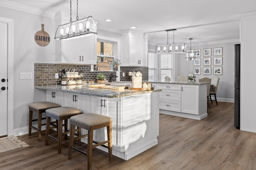
[[[176,45],[174,42],[174,31],[177,29],[166,29],[167,31],[167,43],[166,45],[156,45],[156,53],[165,54],[165,53],[186,53],[186,43]],[[173,31],[173,42],[172,45],[168,42],[168,32]]]

